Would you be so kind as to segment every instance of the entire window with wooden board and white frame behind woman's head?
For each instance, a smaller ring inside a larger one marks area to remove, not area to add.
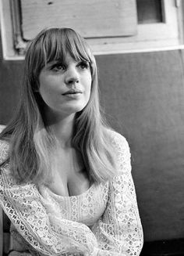
[[[43,27],[73,27],[94,54],[181,47],[177,0],[0,0],[5,59],[23,59],[27,41]],[[180,3],[180,5],[179,5]],[[61,15],[63,13],[63,15]]]

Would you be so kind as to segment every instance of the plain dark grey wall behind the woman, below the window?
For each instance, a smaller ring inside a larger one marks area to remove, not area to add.
[[[184,236],[183,52],[97,56],[101,102],[132,153],[145,241]],[[2,60],[0,123],[19,102],[23,61]]]

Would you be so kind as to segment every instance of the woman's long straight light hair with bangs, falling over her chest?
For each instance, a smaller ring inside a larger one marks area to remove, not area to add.
[[[75,117],[72,145],[80,151],[91,182],[104,182],[115,175],[109,128],[104,124],[99,105],[94,56],[76,31],[53,27],[41,31],[27,47],[19,106],[0,135],[0,139],[9,141],[6,161],[19,182],[40,184],[51,176],[50,157],[56,141],[44,124],[38,77],[47,63],[56,59],[65,62],[67,52],[73,59],[90,64],[92,78],[89,102]]]

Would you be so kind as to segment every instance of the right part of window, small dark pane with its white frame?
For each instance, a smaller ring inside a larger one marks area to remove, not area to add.
[[[91,41],[94,52],[143,52],[182,48],[182,1],[136,0],[136,5],[136,35]]]

